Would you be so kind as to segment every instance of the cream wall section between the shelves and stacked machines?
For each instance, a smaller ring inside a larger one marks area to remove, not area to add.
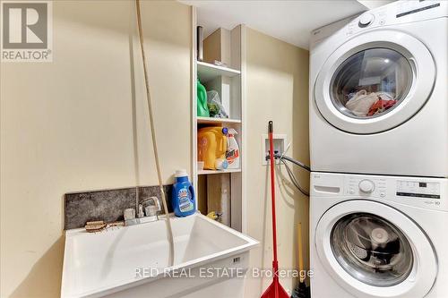
[[[251,266],[271,268],[271,188],[268,166],[262,166],[262,134],[268,121],[275,133],[292,140],[288,155],[309,165],[308,51],[247,29],[247,232],[262,244],[251,253]],[[308,188],[309,175],[297,170]],[[280,268],[297,268],[297,223],[302,222],[308,263],[308,199],[290,186],[284,168],[276,176],[277,240]],[[292,290],[297,280],[280,279]],[[270,278],[247,277],[245,297],[260,297]]]

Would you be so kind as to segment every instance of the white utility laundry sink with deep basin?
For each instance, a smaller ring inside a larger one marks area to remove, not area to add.
[[[201,214],[65,234],[62,297],[243,297],[254,239]],[[225,272],[224,272],[225,271]],[[151,294],[151,295],[149,295]]]

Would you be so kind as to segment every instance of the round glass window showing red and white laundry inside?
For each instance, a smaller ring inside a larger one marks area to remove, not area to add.
[[[389,48],[369,48],[340,64],[330,96],[343,114],[371,118],[400,105],[411,86],[412,68],[406,57]]]

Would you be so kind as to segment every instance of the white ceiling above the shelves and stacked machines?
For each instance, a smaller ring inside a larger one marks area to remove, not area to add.
[[[357,0],[179,0],[197,7],[204,36],[238,24],[259,30],[297,47],[308,48],[314,29],[367,10]],[[373,1],[369,1],[373,2]],[[383,2],[383,1],[379,1]]]

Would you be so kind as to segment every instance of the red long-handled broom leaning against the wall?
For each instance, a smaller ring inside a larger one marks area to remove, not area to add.
[[[272,260],[273,280],[271,285],[264,291],[262,298],[289,298],[285,289],[279,282],[279,261],[277,260],[277,226],[275,223],[275,183],[274,183],[274,142],[273,125],[269,122],[269,156],[271,161],[271,200],[272,200],[272,244],[274,260]]]

